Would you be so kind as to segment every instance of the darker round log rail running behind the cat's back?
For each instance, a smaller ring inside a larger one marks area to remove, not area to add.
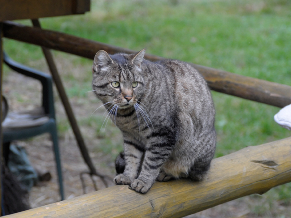
[[[7,38],[89,59],[94,59],[96,52],[99,50],[105,50],[111,54],[136,52],[60,32],[27,27],[12,22],[4,23],[3,33]],[[145,54],[145,58],[152,61],[164,59],[151,54]],[[237,75],[193,63],[190,64],[203,75],[212,90],[281,108],[291,104],[291,86]]]

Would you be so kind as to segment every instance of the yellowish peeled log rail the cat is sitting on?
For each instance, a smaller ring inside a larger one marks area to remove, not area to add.
[[[291,137],[216,158],[203,182],[156,182],[146,194],[119,185],[7,217],[183,217],[291,182]]]

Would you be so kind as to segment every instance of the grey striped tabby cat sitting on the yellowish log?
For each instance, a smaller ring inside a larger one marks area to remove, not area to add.
[[[201,181],[216,140],[208,86],[191,65],[144,54],[100,50],[93,62],[93,91],[124,138],[114,182],[146,193],[155,180]]]

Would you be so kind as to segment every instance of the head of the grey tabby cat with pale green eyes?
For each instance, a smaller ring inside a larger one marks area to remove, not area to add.
[[[103,103],[111,102],[120,109],[137,103],[142,96],[144,80],[141,75],[145,49],[136,54],[109,55],[100,50],[93,62],[93,90]]]

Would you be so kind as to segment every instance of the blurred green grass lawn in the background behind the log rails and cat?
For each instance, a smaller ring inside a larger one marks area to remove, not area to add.
[[[133,50],[146,48],[147,53],[166,58],[291,85],[290,9],[291,1],[92,1],[91,11],[85,15],[44,18],[41,24],[45,29]],[[19,22],[31,25],[28,20]],[[5,39],[4,48],[19,62],[45,68],[37,46]],[[82,104],[91,90],[92,61],[62,52],[54,55],[57,61],[69,60],[59,66],[60,72],[67,72],[61,73],[67,94],[77,99],[80,107],[86,107]],[[71,73],[68,69],[77,70]],[[212,94],[218,136],[216,157],[290,136],[273,120],[279,108]],[[110,139],[119,131],[108,125],[108,132],[100,133],[104,117],[90,117],[92,113],[77,114],[79,123],[96,129],[95,136],[101,139],[96,149],[111,154],[113,160],[122,142]],[[65,118],[58,120],[62,135],[69,126]],[[273,208],[272,202],[291,207],[291,185],[253,198],[263,199],[258,208],[252,208],[254,216],[288,216]]]

